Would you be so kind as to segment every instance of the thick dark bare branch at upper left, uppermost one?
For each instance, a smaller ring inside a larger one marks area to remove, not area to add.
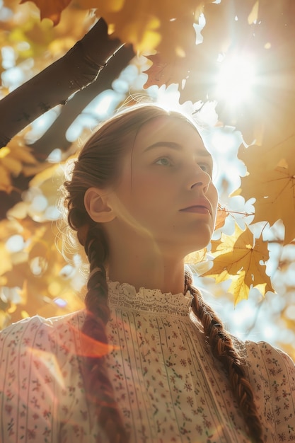
[[[96,80],[122,42],[108,35],[103,18],[44,71],[0,100],[0,148],[39,115],[66,103],[76,91]]]

